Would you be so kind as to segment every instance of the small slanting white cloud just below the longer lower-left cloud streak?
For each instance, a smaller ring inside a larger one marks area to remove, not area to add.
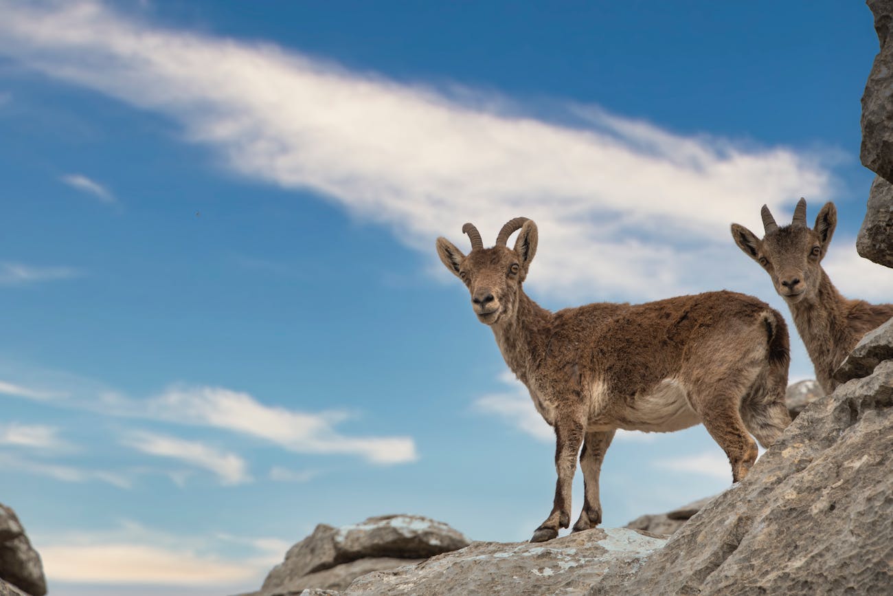
[[[170,457],[192,466],[210,470],[217,474],[223,484],[242,484],[252,480],[251,475],[248,474],[247,464],[242,457],[215,449],[199,441],[187,441],[153,432],[135,431],[122,437],[121,443],[149,455]]]

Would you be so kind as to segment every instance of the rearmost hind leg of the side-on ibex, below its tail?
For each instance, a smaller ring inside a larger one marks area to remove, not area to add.
[[[779,366],[767,365],[741,401],[744,425],[764,449],[778,441],[790,424],[790,413],[785,404],[787,389],[787,367],[780,370]]]

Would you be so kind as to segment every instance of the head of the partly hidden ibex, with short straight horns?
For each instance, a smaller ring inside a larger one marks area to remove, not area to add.
[[[775,291],[789,304],[814,298],[822,279],[820,263],[837,226],[837,209],[826,203],[815,219],[815,227],[806,226],[806,200],[801,198],[794,210],[794,220],[779,227],[763,206],[764,238],[738,223],[731,224],[731,235],[744,253],[759,263],[769,276]]]

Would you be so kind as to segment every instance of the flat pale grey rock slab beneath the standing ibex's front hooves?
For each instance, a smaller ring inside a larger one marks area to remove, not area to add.
[[[665,539],[626,528],[572,533],[547,542],[472,542],[416,565],[363,575],[344,594],[583,594],[616,588]]]

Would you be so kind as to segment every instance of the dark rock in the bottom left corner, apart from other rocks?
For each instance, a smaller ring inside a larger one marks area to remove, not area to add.
[[[19,517],[13,509],[4,505],[0,505],[0,579],[31,596],[46,594],[46,578],[40,555],[31,546]]]

